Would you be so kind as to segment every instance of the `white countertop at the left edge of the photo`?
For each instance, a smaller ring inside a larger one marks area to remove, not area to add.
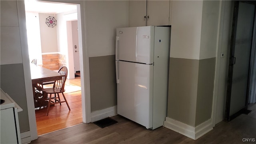
[[[5,102],[0,105],[0,110],[16,107],[18,112],[22,111],[22,108],[16,102],[14,102],[14,100],[7,93],[5,93],[2,89],[1,89],[1,93],[0,93],[0,98],[2,100],[5,100]]]

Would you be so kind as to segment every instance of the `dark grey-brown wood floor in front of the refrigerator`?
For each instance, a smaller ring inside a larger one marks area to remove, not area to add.
[[[118,123],[111,126],[100,128],[93,123],[79,124],[39,136],[31,144],[241,144],[243,138],[256,139],[256,104],[250,109],[254,110],[250,115],[242,114],[230,122],[220,122],[198,140],[165,127],[147,130],[117,115],[112,118]]]

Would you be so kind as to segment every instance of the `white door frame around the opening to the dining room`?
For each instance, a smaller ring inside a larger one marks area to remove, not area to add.
[[[85,1],[72,1],[72,0],[46,0],[49,2],[77,4],[78,13],[78,41],[79,41],[79,55],[80,55],[80,73],[81,73],[81,95],[82,95],[82,117],[83,122],[91,122],[91,106],[90,106],[90,71],[89,71],[89,56],[86,46],[86,9]],[[17,0],[18,19],[20,24],[20,39],[22,49],[22,61],[24,68],[24,80],[26,87],[26,99],[28,106],[28,118],[30,126],[31,140],[38,138],[36,128],[36,115],[34,110],[34,100],[32,92],[32,82],[30,75],[30,62],[28,54],[28,42],[26,34],[26,15],[24,1]]]

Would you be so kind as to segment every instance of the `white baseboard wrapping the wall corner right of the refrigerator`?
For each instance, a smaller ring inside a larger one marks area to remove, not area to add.
[[[172,118],[166,117],[166,121],[164,121],[164,127],[192,138],[193,140],[196,140],[212,130],[212,119],[209,119],[202,124],[193,127],[177,120],[173,120]]]

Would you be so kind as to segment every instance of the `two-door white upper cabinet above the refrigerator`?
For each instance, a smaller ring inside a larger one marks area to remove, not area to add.
[[[171,0],[130,0],[129,26],[171,25]]]

